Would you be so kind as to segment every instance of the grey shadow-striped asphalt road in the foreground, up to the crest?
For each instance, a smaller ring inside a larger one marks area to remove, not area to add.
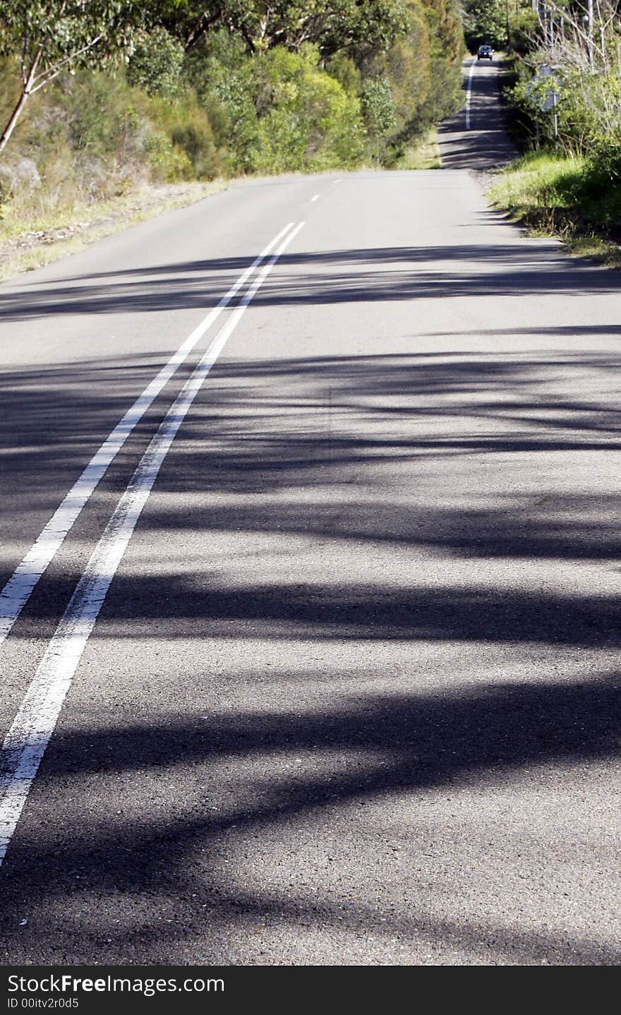
[[[0,297],[1,960],[617,964],[619,276],[446,170],[239,183]]]

